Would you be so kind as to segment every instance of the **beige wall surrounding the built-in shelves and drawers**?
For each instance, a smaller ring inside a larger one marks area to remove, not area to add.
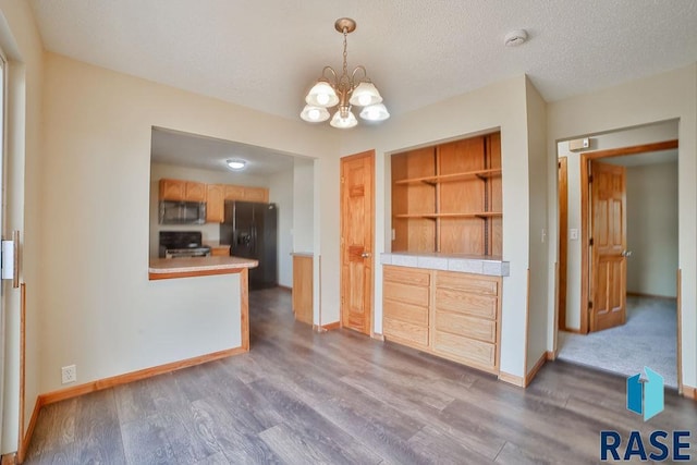
[[[511,262],[511,276],[503,279],[501,370],[517,377],[525,376],[526,336],[522,328],[526,327],[528,238],[533,208],[521,201],[529,194],[526,86],[525,76],[518,76],[403,117],[392,118],[379,129],[363,125],[350,133],[343,133],[341,147],[342,156],[376,149],[377,265],[374,329],[381,333],[382,267],[379,266],[378,255],[390,252],[389,155],[412,147],[501,130],[503,258]],[[531,117],[535,121],[539,121],[539,111],[540,109],[537,109]],[[543,271],[541,273],[545,274]],[[331,318],[339,318],[338,309],[335,314],[331,314]]]

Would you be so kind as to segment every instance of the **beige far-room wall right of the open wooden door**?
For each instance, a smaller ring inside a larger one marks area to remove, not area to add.
[[[675,297],[677,163],[627,167],[627,292]]]

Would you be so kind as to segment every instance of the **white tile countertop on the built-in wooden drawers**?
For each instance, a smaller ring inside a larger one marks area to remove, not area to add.
[[[508,277],[511,272],[509,261],[490,255],[394,252],[380,254],[380,264],[492,277]]]

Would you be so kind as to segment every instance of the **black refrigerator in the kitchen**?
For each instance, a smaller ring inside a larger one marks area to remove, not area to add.
[[[230,255],[254,258],[259,266],[249,269],[249,289],[278,285],[276,204],[225,201],[225,219],[220,224],[220,244],[230,245]]]

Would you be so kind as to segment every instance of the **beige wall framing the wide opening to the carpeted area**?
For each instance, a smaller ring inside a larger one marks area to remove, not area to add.
[[[557,162],[561,140],[601,134],[667,120],[678,120],[678,266],[682,269],[683,382],[697,386],[697,64],[632,81],[620,86],[548,105],[548,152]],[[548,198],[557,195],[557,171],[550,170]],[[571,186],[570,186],[571,187]],[[571,191],[571,188],[570,188]],[[549,218],[557,218],[557,201],[549,203]],[[557,222],[552,237],[558,237]],[[570,228],[573,228],[570,224]],[[557,261],[559,243],[550,243]],[[548,290],[549,313],[554,314],[553,287]],[[571,302],[571,301],[570,301]],[[555,329],[550,326],[548,340]]]

